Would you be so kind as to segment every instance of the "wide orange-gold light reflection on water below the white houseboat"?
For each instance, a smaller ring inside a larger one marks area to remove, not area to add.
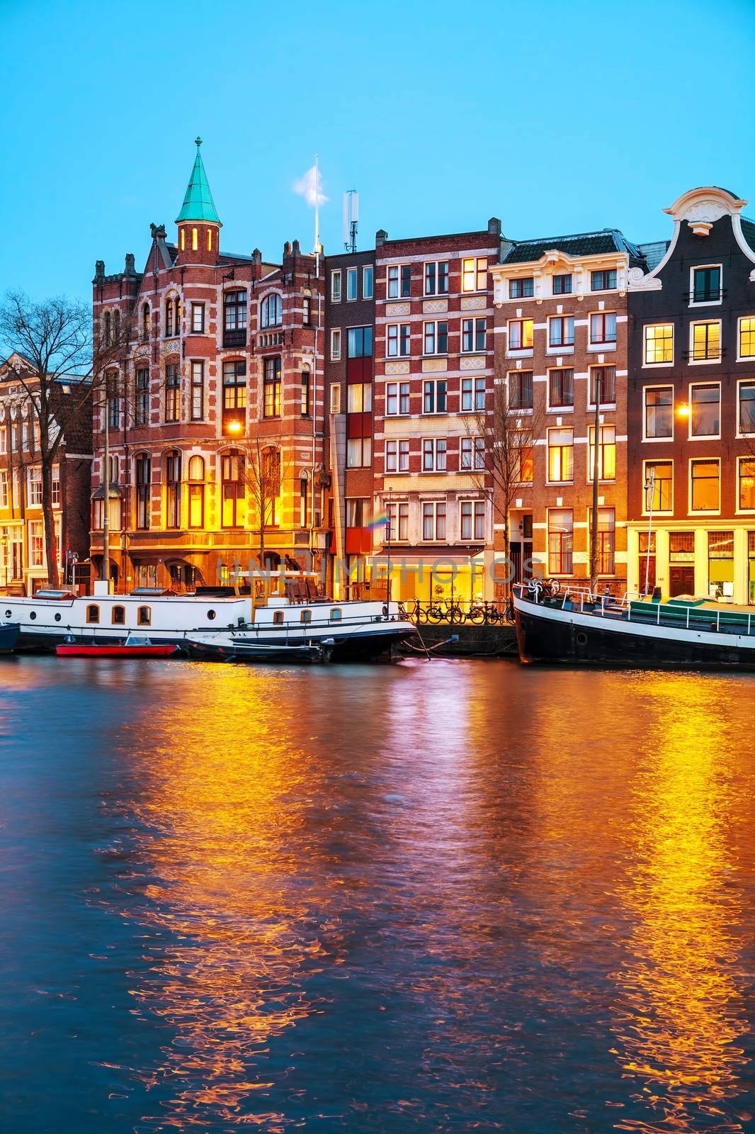
[[[156,743],[141,754],[146,782],[137,818],[149,833],[139,849],[160,882],[146,887],[141,911],[154,955],[150,976],[141,972],[132,991],[137,1014],[173,1032],[162,1065],[146,1077],[147,1088],[162,1083],[161,1093],[164,1081],[175,1084],[161,1128],[203,1126],[211,1115],[213,1128],[282,1131],[282,1114],[255,1107],[272,1084],[251,1076],[252,1057],[314,1010],[303,970],[317,972],[325,953],[339,963],[339,924],[328,919],[322,875],[314,902],[306,877],[300,895],[283,886],[302,873],[288,845],[307,797],[319,794],[317,772],[288,741],[274,688],[264,696],[248,674],[209,667],[190,710],[167,703],[151,720]],[[258,701],[249,700],[255,689]],[[300,807],[286,806],[292,793]]]

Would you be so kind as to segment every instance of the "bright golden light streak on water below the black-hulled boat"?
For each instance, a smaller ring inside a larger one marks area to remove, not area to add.
[[[642,693],[655,719],[634,782],[634,877],[619,892],[634,931],[614,974],[614,1029],[622,1072],[652,1117],[616,1126],[741,1131],[752,1116],[732,1101],[744,1090],[739,1044],[748,1030],[732,837],[747,821],[747,799],[730,786],[741,734],[728,735],[713,679],[653,675]]]

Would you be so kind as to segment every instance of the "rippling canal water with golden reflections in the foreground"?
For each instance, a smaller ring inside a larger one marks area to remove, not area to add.
[[[755,678],[0,691],[3,1134],[755,1125]]]

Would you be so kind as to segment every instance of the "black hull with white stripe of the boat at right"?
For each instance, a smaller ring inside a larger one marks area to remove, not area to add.
[[[515,599],[519,658],[567,666],[755,670],[755,635],[658,626]]]

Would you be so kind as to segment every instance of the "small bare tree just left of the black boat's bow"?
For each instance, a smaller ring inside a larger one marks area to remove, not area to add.
[[[472,439],[472,477],[480,491],[492,500],[493,516],[503,527],[503,550],[511,562],[511,508],[524,485],[532,483],[535,439],[543,415],[537,409],[524,409],[504,381],[493,387],[493,405],[467,418]],[[504,581],[508,600],[511,587],[510,569]]]

